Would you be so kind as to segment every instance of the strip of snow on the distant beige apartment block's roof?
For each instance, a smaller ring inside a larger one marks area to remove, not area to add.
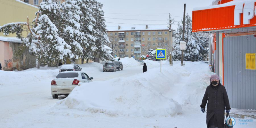
[[[167,25],[148,25],[147,29],[146,25],[121,26],[120,29],[118,29],[118,26],[107,26],[107,29],[108,31],[169,30]]]

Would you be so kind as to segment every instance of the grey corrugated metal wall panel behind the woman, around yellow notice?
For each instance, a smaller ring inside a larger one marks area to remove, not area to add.
[[[245,53],[256,53],[256,37],[224,38],[224,86],[231,108],[256,110],[256,70],[245,69]]]

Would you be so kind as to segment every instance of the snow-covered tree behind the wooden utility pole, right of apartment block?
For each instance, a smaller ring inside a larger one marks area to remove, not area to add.
[[[202,61],[206,59],[208,50],[208,37],[200,33],[192,33],[192,20],[187,14],[185,20],[185,36],[186,50],[184,51],[185,61]],[[183,23],[183,21],[182,21]],[[178,30],[175,32],[175,40],[172,51],[173,60],[181,60],[180,41],[182,41],[182,24],[178,24]]]

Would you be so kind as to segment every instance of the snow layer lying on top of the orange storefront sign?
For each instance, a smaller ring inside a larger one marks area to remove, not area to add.
[[[225,4],[212,5],[212,6],[207,6],[207,7],[197,7],[197,8],[194,8],[193,11],[241,5],[241,4],[245,4],[245,3],[251,3],[251,2],[256,2],[256,0],[233,0],[233,1],[230,1]]]

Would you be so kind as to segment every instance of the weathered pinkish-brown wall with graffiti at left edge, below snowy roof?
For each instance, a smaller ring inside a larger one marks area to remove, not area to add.
[[[0,41],[0,63],[2,70],[25,70],[36,67],[36,57],[29,54],[28,49],[21,55],[15,53],[19,50],[18,43]]]

